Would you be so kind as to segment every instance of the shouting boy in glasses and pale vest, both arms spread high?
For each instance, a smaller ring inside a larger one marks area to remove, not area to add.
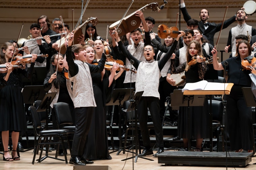
[[[122,53],[126,56],[126,58],[131,61],[134,61],[133,66],[137,69],[137,76],[135,81],[135,88],[137,92],[144,91],[142,97],[137,105],[137,113],[139,119],[139,125],[141,129],[141,135],[143,140],[143,145],[145,149],[138,156],[147,156],[152,155],[153,150],[150,146],[150,137],[149,130],[147,125],[148,120],[148,108],[152,117],[152,121],[155,128],[156,134],[156,147],[159,148],[157,153],[153,156],[156,157],[158,154],[164,152],[164,142],[163,142],[163,130],[162,130],[162,122],[160,119],[160,106],[159,106],[159,78],[161,77],[160,71],[164,67],[165,63],[172,56],[175,47],[177,46],[177,40],[174,41],[172,47],[167,51],[165,56],[159,60],[154,60],[154,47],[152,45],[146,45],[144,47],[144,57],[142,61],[136,59],[131,53],[125,48],[120,38],[118,37],[118,33],[116,31],[112,31],[113,36],[118,42],[119,48]],[[178,38],[183,36],[185,33],[183,31],[180,32]],[[174,55],[173,55],[174,56]]]

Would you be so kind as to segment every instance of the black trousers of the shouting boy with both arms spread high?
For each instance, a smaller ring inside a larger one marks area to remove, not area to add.
[[[155,128],[156,147],[163,148],[164,147],[163,129],[162,129],[161,118],[159,115],[160,106],[159,106],[159,99],[156,97],[142,96],[137,105],[137,114],[138,114],[140,129],[141,129],[143,145],[145,147],[150,146],[149,129],[147,124],[148,108],[149,108],[150,115],[152,117],[152,121]]]

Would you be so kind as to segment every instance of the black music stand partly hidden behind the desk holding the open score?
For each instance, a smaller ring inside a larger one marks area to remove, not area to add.
[[[189,112],[190,106],[203,106],[204,105],[205,95],[183,95],[182,90],[174,90],[171,93],[171,106],[186,106],[188,107],[187,116],[188,116],[188,151],[191,151],[191,144],[190,144],[190,135],[191,135],[191,128],[190,128],[190,120],[189,120]],[[181,136],[182,138],[183,136]]]

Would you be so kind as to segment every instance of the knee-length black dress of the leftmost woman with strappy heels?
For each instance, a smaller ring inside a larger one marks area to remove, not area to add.
[[[29,77],[33,67],[34,64],[31,64],[29,72],[20,68],[14,69],[9,75],[7,85],[0,90],[0,131],[27,130],[19,73]],[[6,73],[0,73],[0,78],[3,78],[5,75]]]

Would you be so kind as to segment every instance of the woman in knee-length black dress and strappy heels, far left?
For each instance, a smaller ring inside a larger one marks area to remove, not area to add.
[[[23,74],[25,77],[30,77],[37,58],[36,54],[32,54],[31,67],[28,72],[21,68],[14,69],[11,63],[9,63],[13,52],[14,46],[11,43],[6,42],[2,45],[0,64],[6,64],[6,67],[8,68],[7,73],[0,73],[0,79],[3,78],[7,81],[7,85],[0,90],[0,131],[2,131],[4,161],[20,160],[16,148],[18,145],[19,133],[20,131],[27,130],[27,124],[19,73]],[[9,69],[10,67],[11,69]],[[9,131],[11,131],[12,137],[12,157],[8,152]]]

